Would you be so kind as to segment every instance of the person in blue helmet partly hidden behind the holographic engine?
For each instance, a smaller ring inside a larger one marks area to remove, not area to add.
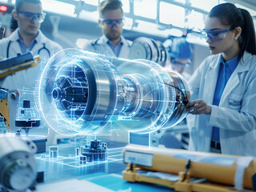
[[[171,69],[181,74],[185,80],[189,81],[190,74],[185,72],[186,67],[190,66],[193,49],[185,38],[174,38],[172,46],[169,47],[169,57]]]

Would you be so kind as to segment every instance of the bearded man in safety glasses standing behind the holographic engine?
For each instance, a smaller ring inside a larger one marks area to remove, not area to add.
[[[103,35],[87,41],[83,50],[90,50],[99,54],[128,58],[131,42],[122,36],[124,11],[119,0],[105,0],[98,7],[99,26]]]

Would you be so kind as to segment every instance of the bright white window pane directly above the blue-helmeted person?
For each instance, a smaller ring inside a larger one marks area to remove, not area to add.
[[[160,2],[160,22],[173,26],[185,26],[185,8],[168,2]]]

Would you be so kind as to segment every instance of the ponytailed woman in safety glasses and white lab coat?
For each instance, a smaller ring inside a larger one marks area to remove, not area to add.
[[[189,80],[193,89],[188,107],[189,150],[256,156],[252,18],[248,11],[223,3],[209,12],[204,32],[213,55]]]

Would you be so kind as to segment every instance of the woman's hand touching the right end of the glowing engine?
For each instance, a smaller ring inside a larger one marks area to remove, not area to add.
[[[189,102],[186,108],[190,114],[211,114],[212,112],[212,107],[208,106],[203,100]]]

